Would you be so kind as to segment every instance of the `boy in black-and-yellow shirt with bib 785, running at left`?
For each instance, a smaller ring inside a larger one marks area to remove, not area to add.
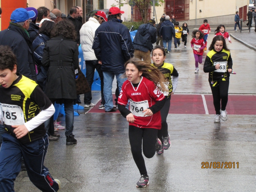
[[[0,150],[0,191],[14,191],[21,156],[30,181],[41,191],[58,191],[44,158],[49,145],[44,122],[55,112],[35,81],[16,74],[17,61],[8,46],[0,46],[0,123],[4,124]]]

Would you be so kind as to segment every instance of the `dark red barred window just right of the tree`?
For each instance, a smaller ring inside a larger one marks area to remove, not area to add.
[[[189,0],[165,0],[165,14],[176,21],[189,20]]]

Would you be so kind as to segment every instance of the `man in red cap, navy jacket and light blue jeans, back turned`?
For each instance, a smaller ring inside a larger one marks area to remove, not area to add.
[[[124,63],[133,57],[132,39],[129,29],[121,24],[121,15],[124,13],[118,7],[111,7],[108,13],[108,22],[104,22],[95,31],[92,44],[96,58],[101,63],[104,76],[105,112],[114,112],[112,83],[114,77],[119,91],[126,78],[121,78],[125,72]]]

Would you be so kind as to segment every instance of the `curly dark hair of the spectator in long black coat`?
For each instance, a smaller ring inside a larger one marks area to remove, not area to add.
[[[69,20],[59,21],[51,31],[51,38],[62,35],[63,37],[71,40],[76,40],[75,26]]]

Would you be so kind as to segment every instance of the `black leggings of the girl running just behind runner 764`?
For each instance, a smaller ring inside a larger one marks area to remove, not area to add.
[[[171,100],[171,95],[169,96],[169,98],[166,98],[164,107],[160,110],[161,119],[162,119],[162,128],[158,130],[157,137],[162,141],[162,143],[163,143],[162,136],[168,137],[168,125],[166,123],[166,118],[170,109],[170,100]]]

